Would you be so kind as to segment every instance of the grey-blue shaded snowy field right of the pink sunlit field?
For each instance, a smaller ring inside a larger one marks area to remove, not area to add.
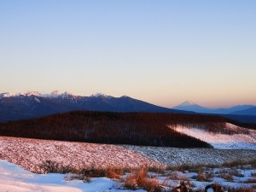
[[[256,160],[256,150],[215,148],[161,148],[124,145],[152,160],[167,166],[177,165],[222,165],[240,160]]]

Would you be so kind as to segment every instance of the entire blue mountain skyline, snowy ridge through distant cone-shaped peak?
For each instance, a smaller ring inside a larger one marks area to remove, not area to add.
[[[0,122],[32,119],[54,113],[78,110],[124,113],[211,113],[241,122],[256,122],[256,107],[253,105],[212,109],[204,108],[195,102],[186,101],[175,108],[163,108],[130,96],[113,97],[104,94],[74,96],[68,92],[61,93],[57,90],[50,94],[42,94],[38,91],[0,94]]]

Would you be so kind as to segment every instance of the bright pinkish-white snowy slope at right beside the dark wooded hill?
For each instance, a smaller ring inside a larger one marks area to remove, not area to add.
[[[177,125],[170,126],[175,131],[201,139],[212,144],[214,148],[221,149],[254,149],[256,150],[256,131],[248,130],[236,125],[226,124],[225,129],[235,132],[235,134],[212,133],[203,129]]]

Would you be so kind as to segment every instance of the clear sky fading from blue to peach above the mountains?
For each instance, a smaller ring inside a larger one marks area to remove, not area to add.
[[[256,1],[0,0],[0,92],[256,105]]]

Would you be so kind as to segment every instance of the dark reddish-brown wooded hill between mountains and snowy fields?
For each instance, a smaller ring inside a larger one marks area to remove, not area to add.
[[[110,113],[76,111],[0,124],[0,135],[89,143],[135,144],[177,148],[211,148],[168,125],[217,129],[218,116],[176,113]]]

